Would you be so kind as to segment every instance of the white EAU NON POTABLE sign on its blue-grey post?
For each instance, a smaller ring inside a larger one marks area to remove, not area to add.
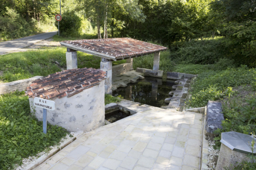
[[[47,133],[47,110],[55,110],[55,102],[34,98],[34,106],[43,108],[43,133]]]

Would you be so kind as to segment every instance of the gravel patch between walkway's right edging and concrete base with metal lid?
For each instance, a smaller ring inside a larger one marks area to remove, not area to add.
[[[208,170],[215,170],[220,152],[220,150],[213,148],[215,145],[215,141],[213,139],[214,138],[212,137],[208,138]]]

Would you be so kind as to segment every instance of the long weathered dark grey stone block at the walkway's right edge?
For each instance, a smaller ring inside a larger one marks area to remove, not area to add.
[[[206,135],[214,136],[216,129],[222,129],[221,123],[224,120],[221,102],[208,101],[206,109]]]

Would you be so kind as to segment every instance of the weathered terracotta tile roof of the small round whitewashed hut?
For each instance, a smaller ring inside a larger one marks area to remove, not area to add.
[[[35,80],[26,88],[28,97],[45,99],[70,97],[84,89],[98,85],[106,72],[95,68],[77,68],[50,74]]]

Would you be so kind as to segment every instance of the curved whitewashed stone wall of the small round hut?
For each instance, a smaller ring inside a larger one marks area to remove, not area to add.
[[[56,98],[55,110],[47,111],[47,121],[52,125],[64,127],[68,131],[88,132],[104,125],[104,80],[99,85],[88,88],[69,98]],[[31,112],[39,121],[43,119],[43,109],[34,107],[33,98],[29,98]],[[33,108],[32,108],[33,107]]]

